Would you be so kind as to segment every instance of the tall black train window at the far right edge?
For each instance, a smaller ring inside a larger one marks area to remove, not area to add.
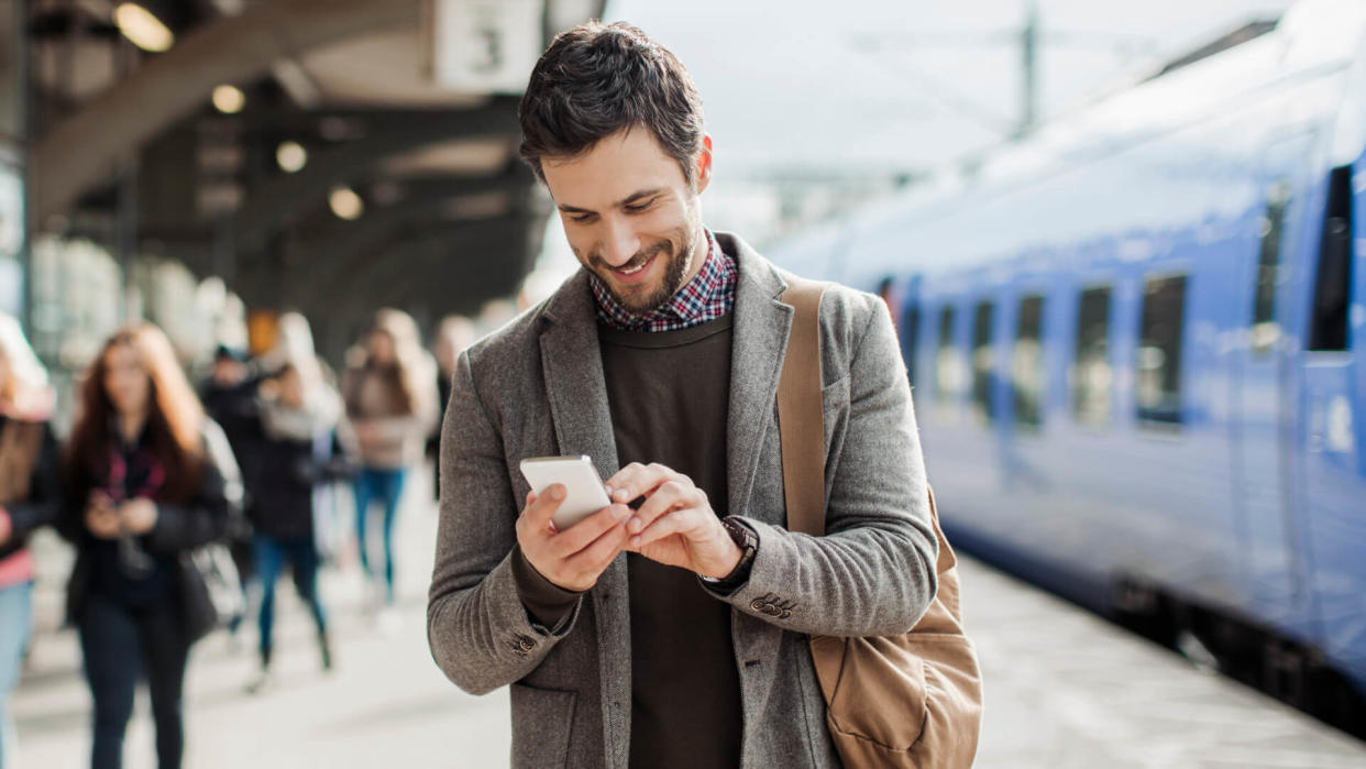
[[[1328,210],[1318,247],[1314,322],[1309,350],[1347,350],[1347,307],[1352,284],[1352,168],[1335,168],[1328,180]]]

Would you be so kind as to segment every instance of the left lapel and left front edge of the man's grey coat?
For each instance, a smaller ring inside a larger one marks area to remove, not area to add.
[[[612,434],[612,411],[602,377],[597,314],[585,270],[560,287],[545,317],[549,326],[541,335],[541,366],[560,453],[586,453],[593,458],[598,475],[611,478],[619,470],[616,437]],[[597,617],[602,738],[608,747],[608,766],[626,766],[631,712],[613,706],[631,702],[630,665],[620,664],[631,658],[626,555],[617,556],[602,572],[591,596]]]

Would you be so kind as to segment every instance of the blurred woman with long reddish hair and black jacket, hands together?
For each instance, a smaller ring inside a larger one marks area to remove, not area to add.
[[[190,645],[214,608],[191,549],[221,541],[238,514],[238,469],[171,343],[150,324],[115,333],[81,388],[59,530],[76,546],[67,615],[94,699],[96,769],[120,766],[139,668],[161,769],[184,751]]]

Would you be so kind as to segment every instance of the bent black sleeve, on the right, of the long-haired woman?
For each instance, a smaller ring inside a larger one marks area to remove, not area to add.
[[[225,540],[242,515],[242,477],[228,438],[205,419],[204,470],[199,490],[183,504],[157,503],[157,522],[146,535],[148,546],[175,553]]]

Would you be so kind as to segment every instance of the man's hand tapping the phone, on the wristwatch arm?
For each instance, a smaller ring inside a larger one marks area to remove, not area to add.
[[[645,504],[627,530],[631,550],[667,565],[716,579],[729,575],[744,553],[717,518],[706,492],[693,479],[663,464],[632,462],[607,482],[615,503],[639,496]]]

